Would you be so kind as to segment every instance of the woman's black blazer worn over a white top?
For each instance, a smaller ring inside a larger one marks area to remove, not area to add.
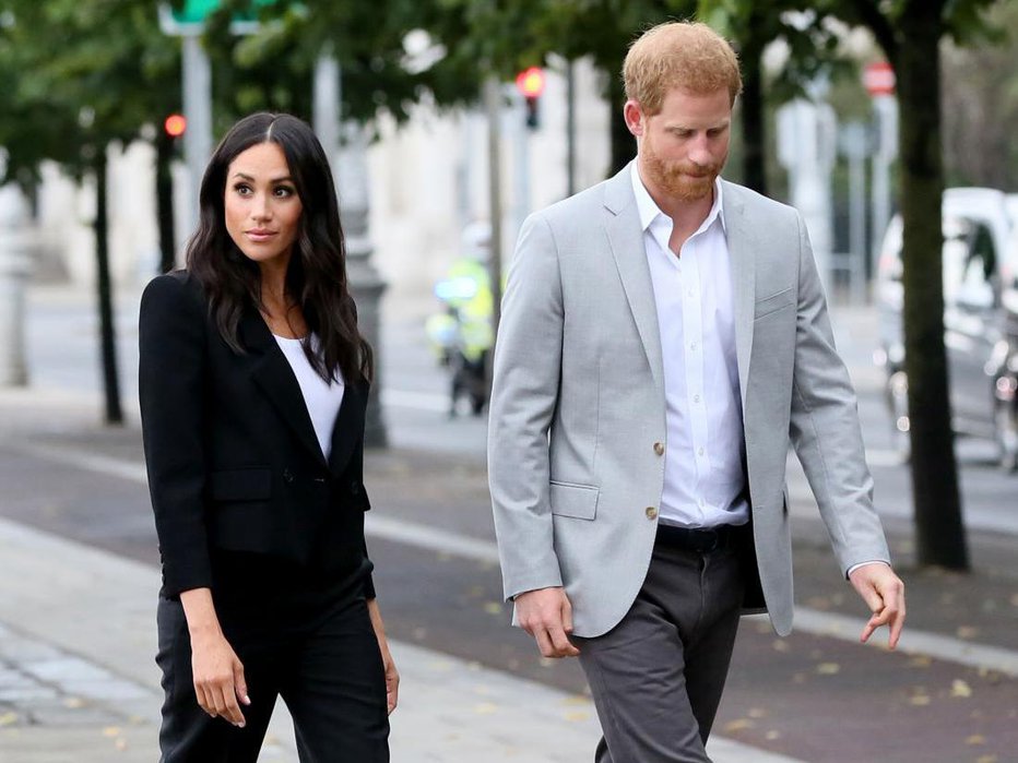
[[[186,272],[145,288],[139,398],[166,596],[211,587],[216,549],[370,569],[367,382],[346,383],[327,462],[297,379],[253,308],[239,338],[244,354],[223,341]],[[369,579],[366,592],[374,596]]]

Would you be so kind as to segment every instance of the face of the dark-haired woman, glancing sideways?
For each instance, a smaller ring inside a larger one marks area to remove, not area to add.
[[[226,171],[226,230],[260,266],[289,264],[304,205],[283,150],[259,143],[237,154]]]

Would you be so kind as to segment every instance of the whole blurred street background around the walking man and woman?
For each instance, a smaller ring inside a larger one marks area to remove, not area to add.
[[[507,625],[490,350],[523,218],[634,157],[626,49],[687,17],[743,67],[724,177],[807,222],[914,623],[903,654],[851,643],[863,613],[793,458],[798,631],[747,621],[714,755],[1014,760],[1016,0],[0,0],[0,759],[151,760],[138,300],[184,264],[215,142],[268,109],[330,154],[379,349],[398,759],[590,760],[577,666]],[[292,759],[274,728],[265,756]]]

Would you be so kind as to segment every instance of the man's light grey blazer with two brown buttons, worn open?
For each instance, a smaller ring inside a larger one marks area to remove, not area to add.
[[[662,347],[629,172],[526,218],[495,350],[488,472],[505,595],[565,585],[580,636],[611,630],[636,598],[664,480]],[[889,555],[803,220],[730,182],[722,196],[759,583],[784,635],[790,443],[842,572]]]

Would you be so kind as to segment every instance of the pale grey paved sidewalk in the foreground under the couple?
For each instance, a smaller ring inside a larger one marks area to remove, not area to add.
[[[152,761],[158,572],[0,520],[0,760]],[[394,642],[403,676],[392,759],[580,763],[599,727],[583,696]],[[296,761],[282,704],[262,759]],[[717,763],[794,763],[718,739]]]

